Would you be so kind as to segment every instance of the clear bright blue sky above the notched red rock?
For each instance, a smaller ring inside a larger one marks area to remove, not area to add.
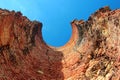
[[[43,23],[48,45],[63,46],[71,37],[70,22],[84,19],[103,6],[120,8],[120,0],[0,0],[0,8],[21,11],[30,20]]]

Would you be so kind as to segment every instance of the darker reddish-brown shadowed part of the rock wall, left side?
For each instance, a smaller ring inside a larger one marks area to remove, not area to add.
[[[63,53],[46,46],[41,28],[20,12],[0,10],[0,80],[63,80]]]

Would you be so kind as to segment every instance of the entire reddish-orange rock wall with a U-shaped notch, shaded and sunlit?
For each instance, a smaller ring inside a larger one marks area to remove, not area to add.
[[[45,44],[42,23],[0,10],[0,79],[119,80],[120,10],[104,7],[88,21],[71,22],[70,41]]]

